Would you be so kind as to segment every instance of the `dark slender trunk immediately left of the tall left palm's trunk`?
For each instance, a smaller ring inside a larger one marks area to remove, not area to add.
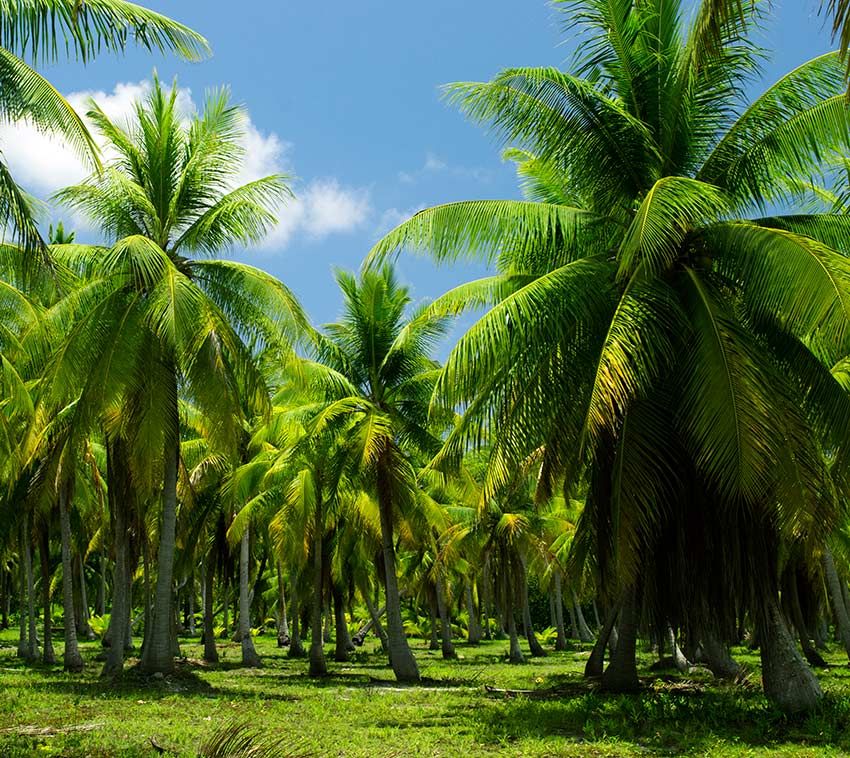
[[[107,439],[106,469],[109,484],[109,516],[115,546],[112,568],[112,608],[109,633],[112,643],[101,676],[119,676],[124,669],[124,642],[130,630],[130,538],[132,485],[126,443]]]

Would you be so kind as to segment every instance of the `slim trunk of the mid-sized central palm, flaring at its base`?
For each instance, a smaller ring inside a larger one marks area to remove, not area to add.
[[[404,622],[401,619],[401,597],[398,591],[395,546],[393,545],[392,487],[387,466],[386,453],[384,453],[384,459],[378,464],[378,510],[381,516],[381,550],[384,556],[390,665],[399,682],[418,682],[419,667],[407,643]]]

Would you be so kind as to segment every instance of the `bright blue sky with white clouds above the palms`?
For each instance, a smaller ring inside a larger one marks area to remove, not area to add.
[[[48,76],[66,93],[102,92],[115,107],[150,78],[177,75],[197,102],[228,85],[251,117],[256,170],[299,177],[301,200],[259,251],[234,251],[283,279],[318,323],[340,300],[335,266],[356,268],[382,229],[440,202],[516,197],[515,176],[498,146],[439,98],[438,86],[484,80],[511,65],[565,67],[558,15],[543,0],[183,0],[146,3],[204,34],[213,57],[185,64],[133,51],[86,67],[61,63]],[[772,51],[766,80],[820,52],[830,37],[817,0],[774,0],[763,36]],[[36,193],[73,173],[62,156],[18,132],[2,148]],[[57,148],[58,149],[58,148]],[[70,173],[69,173],[70,172]],[[401,275],[416,299],[432,298],[483,271],[435,268],[404,258]]]

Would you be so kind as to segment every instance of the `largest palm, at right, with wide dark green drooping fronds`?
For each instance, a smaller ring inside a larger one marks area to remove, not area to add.
[[[741,516],[726,536],[759,577],[748,597],[765,690],[809,708],[820,690],[786,644],[775,546],[816,543],[835,510],[821,450],[846,449],[850,421],[828,370],[850,347],[850,218],[766,212],[808,201],[846,146],[842,65],[821,56],[747,102],[752,9],[712,41],[712,0],[689,30],[680,3],[567,5],[585,35],[574,73],[514,68],[447,89],[515,145],[528,199],[423,211],[372,252],[477,255],[499,270],[431,309],[494,305],[438,381],[437,397],[467,410],[437,463],[490,432],[485,496],[538,453],[540,496],[589,481],[585,533],[621,641],[640,621],[648,535],[683,487],[710,491]],[[754,512],[772,537],[752,539]],[[618,646],[609,686],[636,685],[631,647]]]

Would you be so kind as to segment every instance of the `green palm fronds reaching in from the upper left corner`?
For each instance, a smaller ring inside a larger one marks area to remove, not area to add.
[[[11,0],[0,11],[0,82],[4,120],[27,120],[61,136],[99,166],[98,151],[82,119],[26,60],[54,62],[63,55],[88,61],[104,50],[122,52],[131,41],[148,50],[172,50],[198,60],[209,47],[196,32],[126,0]],[[27,250],[43,249],[31,198],[0,161],[0,223]]]

